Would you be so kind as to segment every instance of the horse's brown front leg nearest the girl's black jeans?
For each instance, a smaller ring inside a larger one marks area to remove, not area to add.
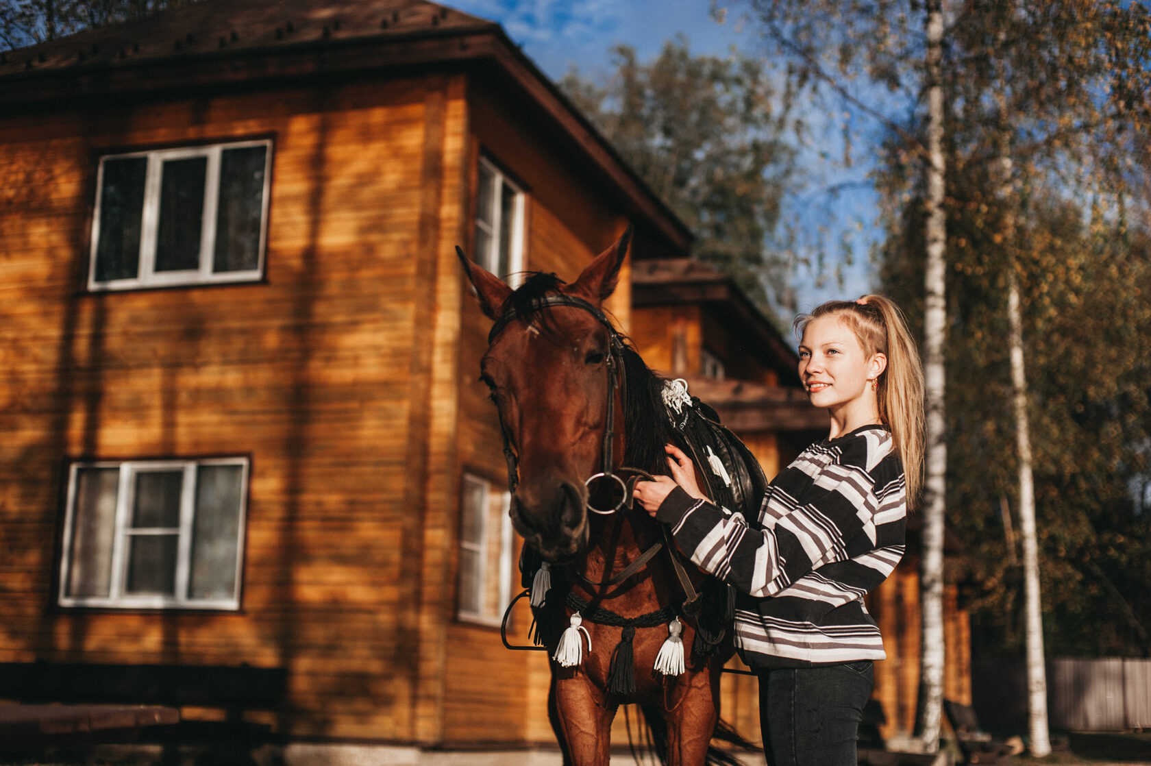
[[[668,766],[703,766],[719,720],[719,667],[715,658],[688,668],[664,695]]]

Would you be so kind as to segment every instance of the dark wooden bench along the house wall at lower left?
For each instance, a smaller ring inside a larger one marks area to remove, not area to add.
[[[162,742],[250,749],[276,740],[244,721],[276,710],[284,668],[89,662],[0,662],[0,749],[44,743]],[[222,721],[183,720],[180,707],[222,710]]]

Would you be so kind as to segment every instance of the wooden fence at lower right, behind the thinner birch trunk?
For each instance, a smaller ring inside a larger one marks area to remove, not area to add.
[[[973,660],[971,698],[984,729],[1026,731],[1023,660]],[[1151,660],[1049,660],[1047,718],[1054,731],[1151,729]]]

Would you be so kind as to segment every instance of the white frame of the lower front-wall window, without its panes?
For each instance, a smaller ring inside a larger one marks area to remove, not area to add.
[[[242,469],[242,491],[237,509],[236,540],[236,590],[227,599],[192,599],[188,597],[188,584],[191,577],[192,524],[196,505],[196,471],[201,465],[238,465]],[[73,530],[76,524],[76,490],[77,475],[82,469],[116,468],[120,470],[116,491],[115,531],[112,543],[112,572],[107,597],[71,597],[67,594],[70,576]],[[180,500],[180,523],[174,528],[151,528],[130,530],[131,511],[135,502],[134,478],[148,471],[183,471],[183,485]],[[68,505],[66,507],[63,545],[60,558],[60,590],[58,604],[62,607],[101,607],[123,609],[239,609],[241,572],[244,561],[244,532],[247,515],[249,461],[246,457],[220,457],[209,460],[153,460],[153,461],[94,461],[71,463],[68,471]],[[175,596],[124,593],[124,581],[128,570],[128,541],[135,534],[178,534],[176,545],[176,584]]]

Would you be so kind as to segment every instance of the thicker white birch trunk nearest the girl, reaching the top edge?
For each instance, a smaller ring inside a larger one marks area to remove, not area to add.
[[[943,532],[946,515],[947,445],[944,420],[944,343],[947,329],[945,296],[946,217],[943,154],[943,7],[927,3],[928,81],[928,220],[924,267],[923,373],[927,387],[927,455],[923,483],[923,562],[921,599],[923,638],[920,643],[920,731],[923,749],[939,748],[943,715]]]

